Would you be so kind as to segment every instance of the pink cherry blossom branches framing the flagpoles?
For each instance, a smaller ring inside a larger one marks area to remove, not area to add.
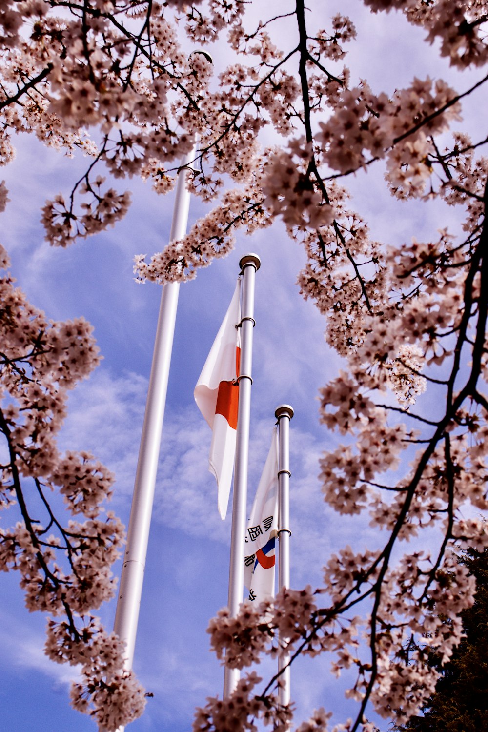
[[[487,0],[363,4],[419,26],[459,71],[487,60]],[[473,578],[454,548],[488,545],[469,511],[487,509],[487,138],[451,131],[463,102],[486,94],[488,76],[481,71],[453,89],[426,70],[394,94],[372,89],[342,67],[353,19],[340,4],[321,8],[332,17],[318,29],[304,0],[283,2],[280,14],[259,22],[244,0],[2,0],[0,161],[12,159],[19,132],[89,156],[70,194],[42,212],[48,241],[64,247],[127,211],[129,193],[105,184],[107,174],[150,179],[167,193],[198,141],[189,185],[211,210],[180,242],[136,256],[141,281],[195,277],[230,251],[239,228],[252,234],[275,220],[304,247],[301,294],[326,316],[326,338],[345,364],[320,392],[320,419],[345,440],[321,459],[322,489],[339,514],[369,516],[378,548],[346,547],[324,558],[320,588],[282,591],[258,608],[244,603],[238,618],[222,610],[209,631],[217,655],[225,651],[237,668],[279,653],[277,631],[288,638],[292,664],[299,655],[333,654],[337,674],[356,669],[348,696],[358,704],[355,719],[334,729],[368,732],[369,709],[402,724],[434,690],[429,654],[451,657],[459,613],[473,601]],[[224,35],[230,61],[218,67],[206,49]],[[276,37],[290,46],[278,48]],[[195,44],[204,52],[189,52]],[[440,222],[434,241],[411,239],[415,231],[400,247],[373,240],[346,185],[378,165],[398,205],[456,207],[460,233]],[[7,195],[0,187],[1,207]],[[1,356],[10,395],[1,417],[10,455],[4,501],[15,494],[23,518],[1,534],[2,568],[23,573],[32,609],[46,609],[49,596],[48,654],[82,663],[75,706],[112,729],[140,713],[143,692],[118,672],[123,649],[91,616],[112,591],[102,567],[121,541],[116,520],[100,518],[110,477],[87,455],[58,455],[53,442],[66,389],[96,354],[86,324],[47,324],[13,294],[8,277],[4,288],[10,305],[1,327],[11,341]],[[435,389],[442,406],[432,419],[416,411],[425,389]],[[46,506],[45,525],[29,519],[24,479]],[[85,523],[64,527],[51,515],[51,487]],[[408,539],[426,531],[434,548],[409,549]],[[59,549],[67,559],[56,564]],[[195,731],[228,729],[229,720],[255,730],[256,718],[288,729],[279,678],[258,684],[251,672],[230,699],[209,700]],[[325,731],[329,716],[318,710],[298,729]]]

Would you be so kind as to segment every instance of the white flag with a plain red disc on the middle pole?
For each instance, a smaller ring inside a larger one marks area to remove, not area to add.
[[[222,519],[227,513],[236,455],[240,321],[241,282],[237,280],[232,301],[194,392],[197,406],[212,430],[209,470],[217,479],[217,503]]]

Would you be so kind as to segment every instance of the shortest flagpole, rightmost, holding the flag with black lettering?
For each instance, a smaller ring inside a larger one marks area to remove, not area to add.
[[[278,589],[290,586],[290,419],[293,408],[282,404],[274,412],[278,420],[279,459],[278,459]],[[286,638],[279,642],[286,643]],[[282,706],[290,703],[290,653],[283,650],[278,655],[279,679],[278,698]]]

